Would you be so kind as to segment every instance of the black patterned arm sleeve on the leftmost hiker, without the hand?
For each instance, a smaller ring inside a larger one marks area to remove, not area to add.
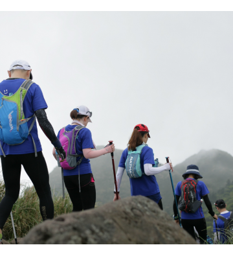
[[[41,127],[44,134],[48,137],[48,139],[53,144],[55,141],[58,140],[58,137],[56,137],[54,129],[52,128],[52,124],[50,124],[49,120],[47,119],[45,110],[43,109],[36,110],[35,114],[36,114],[36,118],[38,119],[39,126]]]

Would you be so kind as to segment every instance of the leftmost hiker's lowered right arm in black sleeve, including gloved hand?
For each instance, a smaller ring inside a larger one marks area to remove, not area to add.
[[[65,150],[63,150],[60,140],[58,139],[58,137],[56,137],[54,129],[52,128],[52,124],[50,124],[49,120],[47,119],[45,110],[36,110],[35,115],[38,119],[39,126],[41,127],[47,138],[51,141],[52,145],[54,145],[61,159],[65,159]]]

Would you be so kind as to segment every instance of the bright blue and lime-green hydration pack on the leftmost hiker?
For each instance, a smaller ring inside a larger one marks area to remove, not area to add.
[[[32,80],[25,80],[16,93],[10,96],[3,95],[0,91],[0,139],[8,145],[18,145],[23,143],[34,126],[36,115],[34,114],[32,117],[25,119],[23,113],[23,101],[27,95],[28,89],[33,83]],[[27,122],[33,117],[34,120],[28,129]],[[32,142],[37,156],[36,144],[34,143],[33,137]],[[2,147],[1,150],[3,152]],[[4,152],[3,156],[6,157]]]

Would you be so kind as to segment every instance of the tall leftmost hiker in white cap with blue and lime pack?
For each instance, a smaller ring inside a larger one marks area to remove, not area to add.
[[[16,60],[8,70],[9,78],[0,83],[0,155],[6,189],[0,203],[0,234],[19,196],[21,165],[36,189],[43,220],[54,216],[49,172],[39,142],[36,118],[63,158],[65,151],[47,119],[45,109],[48,106],[41,88],[32,82],[31,71],[28,62]]]

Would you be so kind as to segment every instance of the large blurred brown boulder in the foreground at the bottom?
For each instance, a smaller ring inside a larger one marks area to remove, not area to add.
[[[33,227],[23,244],[196,244],[159,206],[131,196]]]

